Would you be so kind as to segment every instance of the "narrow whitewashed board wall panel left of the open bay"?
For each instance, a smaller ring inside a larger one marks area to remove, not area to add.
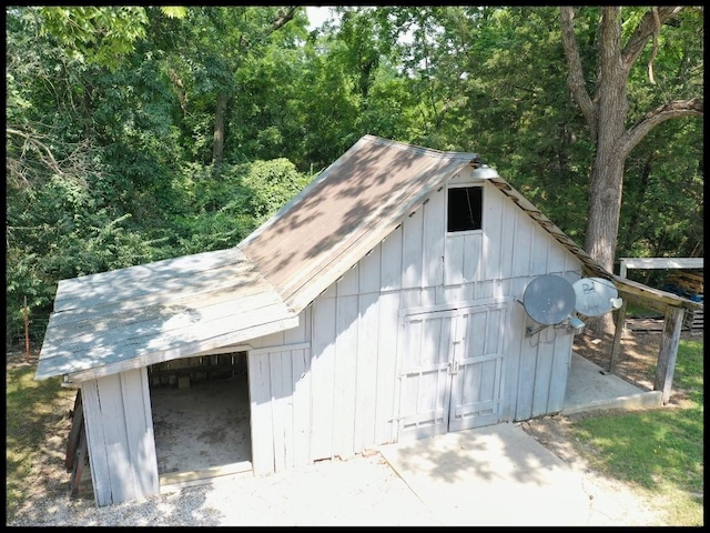
[[[98,506],[160,492],[148,369],[81,383]]]

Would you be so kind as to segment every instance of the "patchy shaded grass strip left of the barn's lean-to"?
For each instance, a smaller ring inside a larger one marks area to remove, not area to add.
[[[22,364],[6,372],[6,514],[10,522],[27,499],[24,479],[40,453],[47,429],[61,415],[61,400],[77,394],[62,389],[61,379],[34,381],[36,365]],[[65,400],[64,400],[65,402]]]

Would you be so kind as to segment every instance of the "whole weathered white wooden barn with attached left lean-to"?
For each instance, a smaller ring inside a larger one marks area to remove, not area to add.
[[[97,504],[160,492],[168,362],[245,354],[255,474],[561,411],[574,331],[524,291],[620,281],[480,165],[365,135],[236,248],[61,281],[37,379],[81,390]]]

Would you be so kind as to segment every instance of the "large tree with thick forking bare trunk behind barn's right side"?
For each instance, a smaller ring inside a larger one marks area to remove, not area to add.
[[[637,120],[629,123],[627,97],[631,69],[643,52],[648,52],[648,82],[656,84],[653,59],[658,53],[661,31],[665,24],[678,24],[684,9],[680,6],[651,8],[636,21],[633,31],[629,33],[627,30],[630,37],[623,43],[621,8],[600,8],[596,40],[597,71],[591,76],[585,71],[575,34],[576,8],[560,8],[562,44],[569,68],[568,87],[589,127],[595,148],[585,250],[608,270],[613,268],[627,158],[658,124],[703,114],[703,102],[698,97],[665,98],[656,109],[636,113]]]

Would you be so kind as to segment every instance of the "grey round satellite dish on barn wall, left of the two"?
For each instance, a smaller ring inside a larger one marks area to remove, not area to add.
[[[535,278],[525,288],[523,306],[539,324],[559,324],[575,308],[575,289],[559,275],[546,274]]]

